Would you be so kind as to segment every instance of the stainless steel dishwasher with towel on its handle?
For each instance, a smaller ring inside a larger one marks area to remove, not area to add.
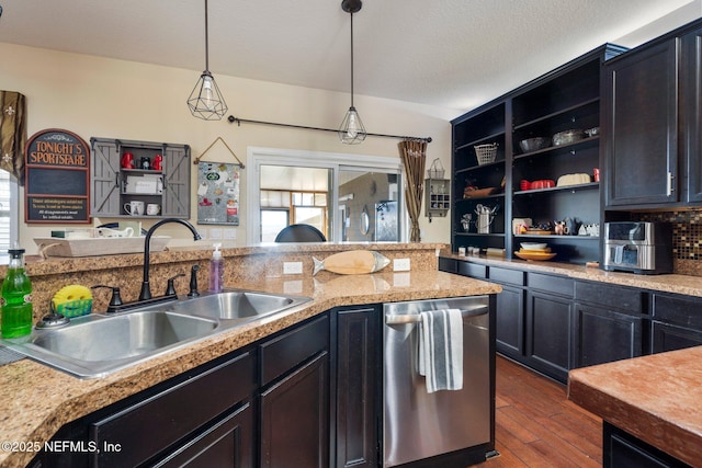
[[[439,309],[463,312],[464,384],[461,390],[428,393],[424,377],[417,372],[419,312]],[[484,453],[494,449],[494,345],[489,317],[489,296],[384,305],[384,467],[471,447]],[[456,466],[466,466],[461,463],[458,457]]]

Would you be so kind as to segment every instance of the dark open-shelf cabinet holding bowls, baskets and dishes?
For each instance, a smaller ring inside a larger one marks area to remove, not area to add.
[[[559,261],[599,258],[602,64],[623,50],[599,47],[452,122],[454,250],[511,258],[535,241]]]

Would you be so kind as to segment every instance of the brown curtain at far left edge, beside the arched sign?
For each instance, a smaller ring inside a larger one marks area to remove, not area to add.
[[[26,107],[24,95],[0,91],[0,169],[24,185],[24,145],[26,144]]]

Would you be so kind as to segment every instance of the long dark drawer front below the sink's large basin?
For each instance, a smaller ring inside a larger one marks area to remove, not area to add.
[[[222,414],[253,390],[253,357],[242,354],[123,411],[92,423],[90,440],[101,449],[94,466],[137,466]]]

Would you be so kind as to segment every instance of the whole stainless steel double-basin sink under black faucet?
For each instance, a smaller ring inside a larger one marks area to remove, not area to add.
[[[91,313],[2,344],[80,378],[102,377],[308,300],[231,289],[132,311]]]

